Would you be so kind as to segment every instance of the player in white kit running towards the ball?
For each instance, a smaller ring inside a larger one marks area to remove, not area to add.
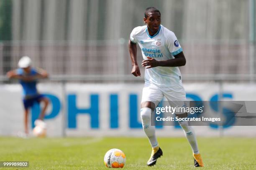
[[[152,146],[151,157],[147,162],[148,166],[152,166],[156,164],[156,160],[163,155],[163,152],[156,140],[155,127],[151,126],[151,112],[164,96],[170,103],[183,106],[182,101],[186,100],[186,94],[178,67],[184,66],[186,59],[174,32],[161,25],[160,11],[155,7],[148,7],[144,15],[146,25],[132,30],[128,46],[133,65],[131,73],[136,77],[141,75],[136,56],[137,43],[144,59],[141,65],[146,68],[141,100],[141,120],[143,130]],[[176,116],[187,117],[187,113],[176,113]],[[179,125],[184,130],[193,150],[195,167],[203,167],[194,130],[187,121],[179,122]]]

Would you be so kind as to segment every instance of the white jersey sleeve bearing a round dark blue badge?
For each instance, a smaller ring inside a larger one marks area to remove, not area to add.
[[[171,52],[172,55],[177,55],[182,52],[182,47],[180,46],[177,37],[173,32],[170,32],[167,36],[166,40],[168,50]]]

